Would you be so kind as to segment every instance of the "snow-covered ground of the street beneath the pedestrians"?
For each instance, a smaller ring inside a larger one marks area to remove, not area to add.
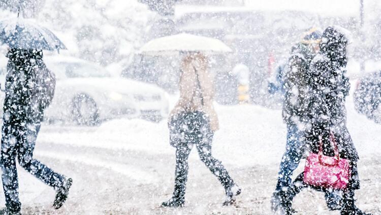
[[[381,214],[381,125],[357,114],[352,96],[347,109],[348,128],[361,156],[358,205]],[[254,105],[218,105],[216,110],[221,128],[213,153],[243,189],[235,205],[221,206],[224,190],[194,150],[185,207],[161,208],[174,184],[175,150],[166,122],[119,119],[92,128],[43,125],[35,157],[72,177],[74,184],[67,203],[54,210],[54,191],[19,167],[23,213],[271,214],[269,201],[285,145],[281,112]],[[328,211],[323,195],[312,191],[297,196],[295,209],[299,214],[339,214]]]

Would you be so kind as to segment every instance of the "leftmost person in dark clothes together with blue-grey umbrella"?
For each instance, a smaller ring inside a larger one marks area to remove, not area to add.
[[[16,19],[0,22],[0,42],[9,45],[0,165],[6,207],[1,214],[20,214],[16,158],[21,167],[53,187],[53,207],[66,201],[71,178],[33,158],[44,111],[51,103],[55,76],[43,61],[42,50],[66,49],[47,28]]]

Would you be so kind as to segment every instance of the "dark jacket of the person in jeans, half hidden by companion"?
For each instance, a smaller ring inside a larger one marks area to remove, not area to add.
[[[291,57],[285,66],[282,116],[288,125],[298,125],[305,121],[303,104],[306,97],[306,74],[314,55],[315,52],[308,45],[297,44],[292,48]]]

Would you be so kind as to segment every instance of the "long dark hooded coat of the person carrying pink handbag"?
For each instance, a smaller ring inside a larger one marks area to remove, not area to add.
[[[356,162],[359,157],[351,135],[346,128],[345,97],[350,83],[345,77],[347,39],[344,33],[332,27],[327,28],[308,71],[308,100],[306,102],[307,126],[305,140],[311,150],[319,151],[319,136],[323,137],[324,154],[333,156],[330,146],[330,132],[334,133],[341,158]]]

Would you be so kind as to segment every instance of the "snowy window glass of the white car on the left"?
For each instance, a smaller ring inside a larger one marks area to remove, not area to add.
[[[58,62],[52,63],[49,68],[55,73],[57,79],[110,77],[106,69],[86,63]]]

